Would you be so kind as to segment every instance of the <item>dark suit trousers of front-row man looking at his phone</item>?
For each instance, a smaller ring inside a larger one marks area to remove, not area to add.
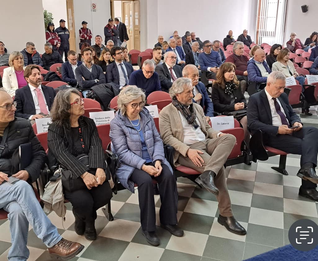
[[[266,140],[266,144],[292,154],[301,155],[300,165],[311,162],[314,168],[317,166],[318,154],[318,129],[315,127],[302,127],[299,131],[294,131],[293,135],[283,134],[275,137],[271,136]],[[304,189],[316,188],[317,184],[301,179],[301,186]]]

